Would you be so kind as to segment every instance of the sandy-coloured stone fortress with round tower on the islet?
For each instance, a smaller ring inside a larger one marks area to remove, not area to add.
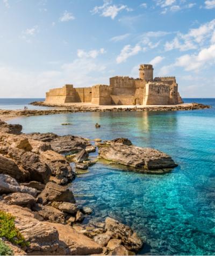
[[[175,77],[153,78],[153,66],[140,65],[139,78],[112,77],[110,85],[74,88],[65,85],[46,93],[46,103],[88,102],[96,105],[175,105],[183,103]]]

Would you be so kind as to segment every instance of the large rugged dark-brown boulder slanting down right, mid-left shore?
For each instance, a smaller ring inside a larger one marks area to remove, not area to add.
[[[18,165],[19,169],[28,173],[28,176],[25,177],[26,181],[48,182],[52,172],[46,163],[40,161],[39,155],[9,147],[8,156]]]

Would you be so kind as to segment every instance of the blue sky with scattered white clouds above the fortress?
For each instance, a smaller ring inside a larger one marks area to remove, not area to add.
[[[109,85],[140,64],[215,98],[215,0],[0,0],[0,31],[0,98]]]

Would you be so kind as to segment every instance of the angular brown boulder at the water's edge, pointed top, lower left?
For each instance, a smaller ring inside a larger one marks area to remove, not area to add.
[[[48,182],[45,189],[38,196],[38,202],[47,204],[48,202],[69,202],[75,203],[73,192],[66,186],[58,185],[54,182]]]

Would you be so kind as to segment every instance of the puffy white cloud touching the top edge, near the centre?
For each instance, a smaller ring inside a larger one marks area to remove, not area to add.
[[[127,5],[120,4],[120,5],[111,5],[112,1],[104,0],[104,4],[101,6],[95,6],[94,9],[91,10],[91,13],[94,15],[99,13],[103,17],[111,17],[111,19],[116,18],[120,11],[132,11],[131,8],[128,8]]]

